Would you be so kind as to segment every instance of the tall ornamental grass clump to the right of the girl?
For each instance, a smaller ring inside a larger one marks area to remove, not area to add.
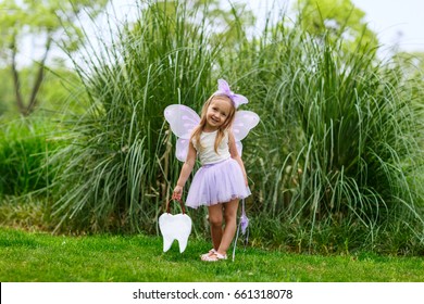
[[[247,165],[257,241],[422,252],[423,88],[376,50],[347,52],[341,38],[296,28],[265,28],[228,67],[249,71],[244,87],[263,121]]]

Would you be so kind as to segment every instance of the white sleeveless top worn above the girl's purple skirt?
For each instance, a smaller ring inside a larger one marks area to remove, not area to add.
[[[213,132],[202,132],[200,136],[201,148],[197,148],[196,140],[192,139],[192,144],[199,154],[200,163],[202,165],[220,163],[232,156],[228,148],[228,132],[224,134],[224,138],[217,145],[217,153],[215,152],[216,135],[217,130]]]

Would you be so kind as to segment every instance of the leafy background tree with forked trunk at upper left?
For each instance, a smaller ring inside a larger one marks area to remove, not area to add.
[[[0,1],[0,60],[10,67],[15,102],[20,113],[29,115],[36,107],[37,94],[45,78],[45,67],[54,46],[68,52],[82,46],[82,27],[76,21],[88,14],[96,17],[109,0],[2,0]],[[64,35],[66,33],[66,35]],[[41,55],[30,79],[25,99],[18,55],[23,41],[36,38]],[[1,62],[0,62],[1,63]]]

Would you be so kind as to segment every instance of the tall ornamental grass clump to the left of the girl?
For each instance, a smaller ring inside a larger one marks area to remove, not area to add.
[[[180,165],[163,110],[199,111],[215,85],[216,49],[205,24],[189,23],[198,12],[173,3],[137,9],[135,24],[98,29],[100,50],[89,45],[89,55],[73,58],[89,98],[86,114],[68,122],[72,144],[54,159],[58,229],[155,231]]]

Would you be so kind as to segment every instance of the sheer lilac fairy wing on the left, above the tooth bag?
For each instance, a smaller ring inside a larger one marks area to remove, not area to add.
[[[164,116],[170,123],[171,130],[178,137],[175,155],[180,162],[185,162],[191,131],[199,125],[200,117],[194,110],[183,104],[166,106]]]

